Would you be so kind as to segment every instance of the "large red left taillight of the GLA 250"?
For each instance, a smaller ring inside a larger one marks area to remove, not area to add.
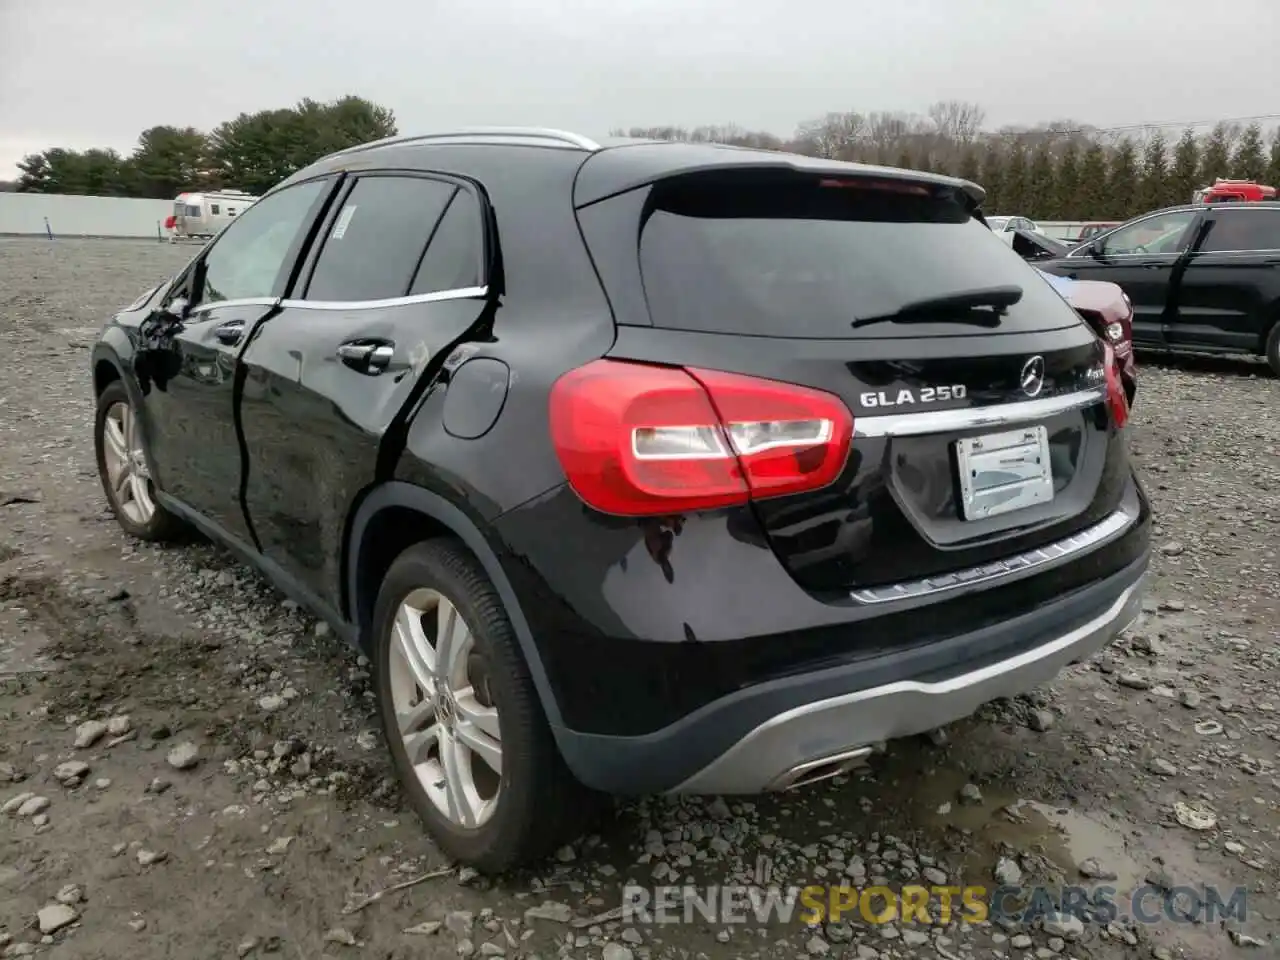
[[[826,486],[849,457],[854,419],[806,387],[596,360],[552,387],[550,431],[588,506],[643,516]]]

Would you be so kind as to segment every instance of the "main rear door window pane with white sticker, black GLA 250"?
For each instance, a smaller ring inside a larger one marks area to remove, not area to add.
[[[440,214],[457,188],[422,177],[366,177],[338,211],[307,300],[388,300],[408,293]]]

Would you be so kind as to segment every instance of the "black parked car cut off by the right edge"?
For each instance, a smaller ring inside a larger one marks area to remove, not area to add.
[[[1037,266],[1119,284],[1139,349],[1262,356],[1280,375],[1280,204],[1158,210]]]

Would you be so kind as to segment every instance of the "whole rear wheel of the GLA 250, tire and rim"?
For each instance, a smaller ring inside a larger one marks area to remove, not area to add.
[[[498,593],[461,544],[415,544],[392,563],[371,653],[392,763],[445,855],[500,873],[581,832],[591,795],[559,755]]]

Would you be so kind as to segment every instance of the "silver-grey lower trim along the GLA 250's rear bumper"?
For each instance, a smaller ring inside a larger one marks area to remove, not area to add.
[[[1111,643],[1142,609],[1146,577],[1085,623],[1039,646],[938,682],[902,680],[796,707],[751,730],[672,794],[758,794],[797,764],[952,723],[1027,692]]]

